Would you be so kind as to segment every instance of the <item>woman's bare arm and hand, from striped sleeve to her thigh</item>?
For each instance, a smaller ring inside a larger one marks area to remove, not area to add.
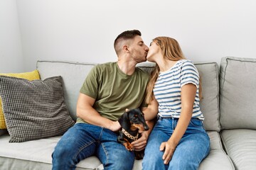
[[[186,84],[181,88],[181,116],[178,119],[178,123],[174,130],[174,133],[171,135],[167,142],[162,142],[160,150],[164,151],[163,159],[164,164],[169,164],[174,150],[178,145],[178,142],[183,137],[188,124],[191,120],[193,113],[193,103],[196,97],[196,86],[194,84]],[[165,149],[165,150],[164,150]]]

